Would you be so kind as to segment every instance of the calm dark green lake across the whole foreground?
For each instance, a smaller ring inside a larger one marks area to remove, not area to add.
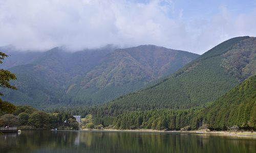
[[[179,133],[22,131],[0,135],[0,152],[256,152],[256,139]]]

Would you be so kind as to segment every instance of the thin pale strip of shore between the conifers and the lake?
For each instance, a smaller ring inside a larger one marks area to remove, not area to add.
[[[97,132],[141,132],[141,133],[180,133],[180,134],[201,134],[201,135],[219,135],[219,136],[232,136],[232,137],[252,137],[256,138],[256,132],[254,131],[237,131],[237,132],[230,132],[230,131],[210,131],[207,132],[205,130],[197,130],[197,131],[163,131],[163,130],[152,130],[152,129],[136,129],[136,130],[116,130],[116,129],[103,129],[103,130],[96,130],[96,129],[83,129],[79,131],[97,131]]]

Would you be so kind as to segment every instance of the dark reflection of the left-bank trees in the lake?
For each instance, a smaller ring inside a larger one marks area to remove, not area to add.
[[[42,147],[57,148],[72,146],[77,133],[72,132],[54,132],[54,131],[23,131],[22,134],[15,138],[10,134],[0,136],[0,149],[8,149],[8,151],[28,152],[37,150]],[[8,136],[3,141],[3,137]]]

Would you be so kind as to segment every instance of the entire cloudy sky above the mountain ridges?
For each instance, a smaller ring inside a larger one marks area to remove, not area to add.
[[[0,0],[0,46],[20,50],[153,44],[203,54],[256,36],[256,1]]]

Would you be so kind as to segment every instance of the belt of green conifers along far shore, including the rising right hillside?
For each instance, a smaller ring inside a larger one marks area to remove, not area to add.
[[[99,111],[92,110],[88,109],[87,113],[94,114],[95,124],[113,125],[116,129],[196,130],[203,126],[211,130],[228,130],[237,125],[243,130],[255,130],[256,75],[206,106],[185,110],[127,111],[117,116],[99,116]]]

